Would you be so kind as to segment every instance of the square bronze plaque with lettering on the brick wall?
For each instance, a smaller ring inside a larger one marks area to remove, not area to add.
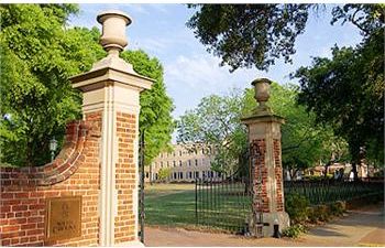
[[[61,240],[81,236],[81,196],[46,200],[45,238]]]

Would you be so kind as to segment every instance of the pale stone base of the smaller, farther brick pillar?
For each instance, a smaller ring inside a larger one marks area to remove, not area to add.
[[[253,218],[250,218],[250,234],[253,237],[261,237],[258,227],[254,224]],[[263,213],[262,237],[272,237],[274,235],[274,225],[278,225],[278,230],[282,234],[284,229],[290,226],[290,219],[286,212]]]

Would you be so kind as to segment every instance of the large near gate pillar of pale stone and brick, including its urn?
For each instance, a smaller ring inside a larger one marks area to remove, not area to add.
[[[72,77],[74,88],[84,93],[84,118],[100,116],[99,245],[139,245],[138,239],[138,137],[140,91],[152,79],[136,74],[119,57],[128,44],[123,12],[98,15],[103,26],[101,44],[108,56],[90,72]]]

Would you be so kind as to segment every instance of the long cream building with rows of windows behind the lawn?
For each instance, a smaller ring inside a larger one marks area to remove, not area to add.
[[[145,182],[160,181],[161,169],[169,169],[166,182],[193,182],[195,179],[219,179],[221,173],[211,170],[215,149],[195,144],[190,149],[183,144],[174,144],[172,152],[163,152],[145,168]]]

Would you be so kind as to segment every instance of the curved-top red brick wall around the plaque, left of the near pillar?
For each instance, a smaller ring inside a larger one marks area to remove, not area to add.
[[[99,244],[99,139],[101,114],[67,126],[65,144],[50,164],[0,168],[1,246],[97,246]],[[48,197],[82,196],[81,237],[45,240]]]

